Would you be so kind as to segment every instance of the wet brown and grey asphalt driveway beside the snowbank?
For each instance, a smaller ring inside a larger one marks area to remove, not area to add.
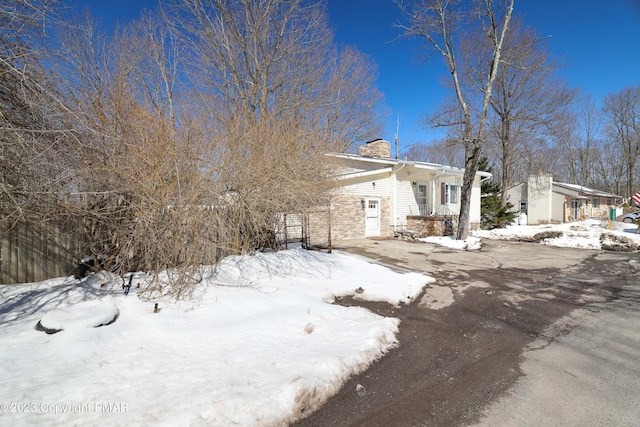
[[[399,309],[337,301],[400,318],[400,345],[296,425],[640,425],[640,254],[335,247],[437,282]]]

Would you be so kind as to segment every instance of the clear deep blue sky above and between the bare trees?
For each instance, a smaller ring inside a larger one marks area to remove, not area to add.
[[[138,17],[154,0],[75,0],[107,25]],[[339,43],[356,45],[378,64],[378,88],[391,117],[381,138],[393,141],[400,116],[401,149],[429,142],[440,133],[424,129],[420,118],[446,95],[440,58],[419,64],[416,42],[397,40],[400,18],[392,0],[327,0]],[[567,67],[561,76],[601,101],[607,94],[640,84],[640,0],[516,0],[514,13],[541,35]]]

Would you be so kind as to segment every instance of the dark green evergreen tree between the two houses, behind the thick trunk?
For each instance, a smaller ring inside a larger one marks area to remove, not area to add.
[[[489,159],[480,159],[478,170],[492,173],[493,167],[489,165]],[[513,205],[507,202],[502,206],[500,194],[500,183],[491,180],[482,182],[480,201],[480,228],[492,230],[494,228],[504,228],[511,224],[516,217],[516,212],[512,211]]]

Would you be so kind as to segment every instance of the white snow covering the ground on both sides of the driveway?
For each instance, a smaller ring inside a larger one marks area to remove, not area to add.
[[[511,226],[426,240],[466,250],[481,239],[640,247],[634,225],[616,228]],[[136,273],[129,295],[105,273],[0,286],[0,425],[286,425],[397,344],[397,319],[332,304],[336,296],[401,306],[433,282],[302,249],[226,258],[189,301],[140,298],[145,280]]]

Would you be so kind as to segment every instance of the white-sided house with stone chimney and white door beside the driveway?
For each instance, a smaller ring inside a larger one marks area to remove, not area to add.
[[[460,212],[464,169],[391,158],[388,141],[375,140],[358,154],[331,154],[337,182],[331,201],[331,238],[392,237],[413,231],[419,235],[453,232]],[[480,225],[480,181],[473,183],[470,229]]]

